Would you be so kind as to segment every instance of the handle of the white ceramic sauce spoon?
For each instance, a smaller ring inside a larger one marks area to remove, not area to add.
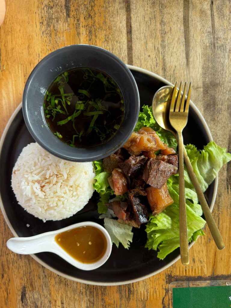
[[[38,237],[12,237],[6,242],[7,247],[15,253],[33,254],[51,251],[51,238]]]

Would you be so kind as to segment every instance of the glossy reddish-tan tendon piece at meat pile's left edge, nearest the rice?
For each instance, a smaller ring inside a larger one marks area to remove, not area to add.
[[[122,170],[121,170],[122,171]],[[107,179],[112,190],[114,190],[115,195],[123,195],[128,191],[128,182],[126,176],[119,169],[115,168],[111,176]]]

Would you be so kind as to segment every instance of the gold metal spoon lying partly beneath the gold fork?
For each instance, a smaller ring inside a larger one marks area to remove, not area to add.
[[[178,92],[178,89],[176,90]],[[173,87],[172,86],[164,86],[160,88],[154,95],[153,101],[152,101],[152,112],[154,115],[154,118],[156,122],[160,125],[160,127],[166,129],[167,131],[171,132],[175,138],[176,138],[176,132],[174,131],[174,128],[172,128],[170,122],[169,122],[169,109],[172,99],[172,92]],[[190,163],[190,160],[188,158],[187,152],[185,148],[184,151],[184,162],[188,168],[188,173],[191,177],[193,186],[196,190],[198,200],[200,201],[202,211],[205,215],[205,220],[209,226],[209,230],[212,234],[212,237],[217,245],[218,249],[224,249],[225,244],[221,238],[221,234],[219,230],[217,229],[217,225],[213,219],[212,213],[210,212],[209,205],[205,199],[204,193],[202,192],[201,186],[197,180],[197,177],[193,171],[193,167]]]

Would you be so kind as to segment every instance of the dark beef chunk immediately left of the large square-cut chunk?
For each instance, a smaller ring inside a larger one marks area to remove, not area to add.
[[[136,174],[143,169],[143,166],[147,160],[147,157],[142,156],[130,156],[124,160],[123,163],[119,164],[119,167],[127,176],[134,177]]]

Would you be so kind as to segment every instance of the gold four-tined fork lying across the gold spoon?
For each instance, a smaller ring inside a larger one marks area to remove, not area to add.
[[[189,255],[188,255],[187,217],[186,217],[186,205],[185,205],[185,193],[184,193],[184,155],[183,155],[184,144],[183,144],[182,131],[188,122],[188,108],[190,102],[192,83],[190,82],[189,84],[186,104],[185,104],[185,94],[186,94],[187,82],[184,85],[184,92],[181,101],[180,101],[180,93],[181,93],[182,81],[180,82],[180,87],[175,102],[176,87],[177,87],[177,82],[173,89],[172,101],[169,111],[169,121],[172,127],[176,130],[178,137],[180,258],[182,264],[187,265],[189,264]]]

